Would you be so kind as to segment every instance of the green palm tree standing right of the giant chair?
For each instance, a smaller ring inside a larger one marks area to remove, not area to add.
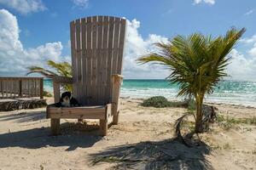
[[[139,63],[166,65],[171,74],[166,79],[179,84],[177,96],[193,97],[196,101],[195,133],[202,133],[202,104],[205,94],[212,94],[218,82],[226,77],[230,51],[246,31],[231,28],[225,36],[212,37],[194,33],[177,36],[167,43],[156,43],[159,50],[138,59]]]

